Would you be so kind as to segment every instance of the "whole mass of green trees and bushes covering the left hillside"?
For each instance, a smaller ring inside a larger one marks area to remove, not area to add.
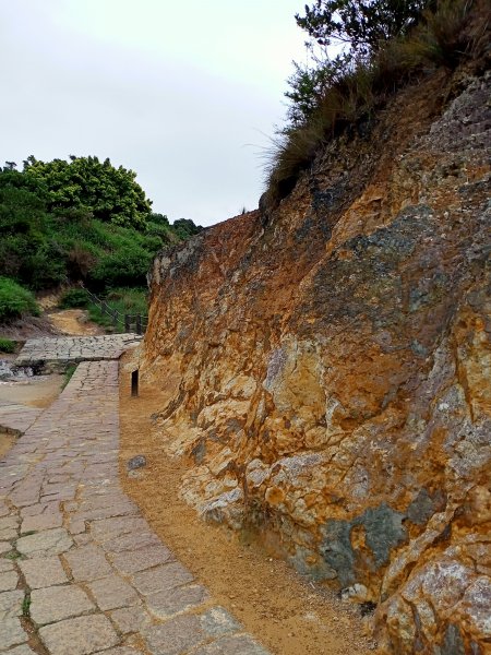
[[[101,295],[137,288],[144,298],[155,254],[201,228],[152,213],[134,178],[97,157],[48,164],[28,157],[22,171],[7,163],[0,168],[2,284],[39,291],[82,282]],[[0,320],[32,309],[5,309]]]

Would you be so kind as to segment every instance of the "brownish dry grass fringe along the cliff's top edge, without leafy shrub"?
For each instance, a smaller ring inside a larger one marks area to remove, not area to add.
[[[372,114],[397,88],[439,67],[454,69],[466,58],[482,55],[491,10],[487,0],[474,4],[471,0],[438,2],[412,33],[388,41],[371,61],[358,63],[327,88],[307,123],[276,136],[267,153],[266,212],[292,191],[323,144]]]

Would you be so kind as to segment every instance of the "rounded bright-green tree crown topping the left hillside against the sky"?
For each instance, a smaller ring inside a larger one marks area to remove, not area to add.
[[[70,162],[24,162],[27,177],[43,182],[50,210],[85,210],[95,218],[124,227],[144,229],[151,201],[135,181],[136,174],[109,159],[70,156]]]

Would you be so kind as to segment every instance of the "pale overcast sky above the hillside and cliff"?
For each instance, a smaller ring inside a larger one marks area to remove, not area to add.
[[[304,0],[0,0],[0,163],[109,157],[156,212],[258,206]]]

